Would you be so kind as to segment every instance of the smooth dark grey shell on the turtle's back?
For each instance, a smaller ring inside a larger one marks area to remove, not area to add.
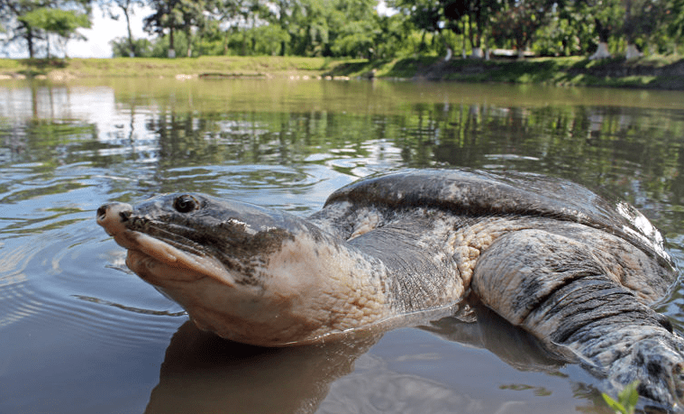
[[[617,235],[674,269],[660,232],[638,210],[566,179],[481,170],[400,170],[342,187],[325,206],[343,201],[395,209],[434,207],[467,216],[571,221]]]

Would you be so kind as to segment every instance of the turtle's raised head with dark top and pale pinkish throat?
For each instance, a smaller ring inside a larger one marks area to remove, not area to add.
[[[128,249],[132,271],[229,339],[306,343],[383,317],[368,278],[377,266],[287,213],[175,194],[106,204],[97,223]]]

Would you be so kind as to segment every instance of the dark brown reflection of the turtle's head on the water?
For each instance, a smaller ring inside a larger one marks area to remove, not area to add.
[[[225,341],[187,322],[171,338],[146,413],[314,412],[330,383],[353,370],[378,336],[260,348]]]

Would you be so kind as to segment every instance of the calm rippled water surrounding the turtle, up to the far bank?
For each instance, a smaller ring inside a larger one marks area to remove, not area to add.
[[[305,79],[0,84],[0,412],[609,412],[495,316],[321,346],[199,333],[128,271],[106,201],[202,191],[306,216],[403,167],[623,198],[684,263],[684,94]],[[676,287],[659,309],[684,329]]]

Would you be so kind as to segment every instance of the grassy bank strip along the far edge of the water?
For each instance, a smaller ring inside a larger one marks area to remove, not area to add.
[[[584,58],[391,61],[299,57],[202,57],[195,59],[0,60],[4,78],[154,77],[350,77],[505,82],[559,86],[648,87],[684,90],[684,60],[625,61]]]

